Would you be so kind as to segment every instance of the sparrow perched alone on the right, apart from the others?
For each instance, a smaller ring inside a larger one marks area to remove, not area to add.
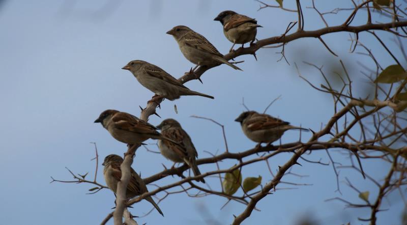
[[[243,133],[249,139],[260,144],[275,142],[286,130],[297,129],[308,131],[308,129],[289,125],[288,122],[267,114],[259,114],[256,111],[246,111],[235,121],[240,122]]]

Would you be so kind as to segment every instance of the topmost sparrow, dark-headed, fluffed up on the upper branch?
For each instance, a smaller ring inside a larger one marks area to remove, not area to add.
[[[255,19],[230,10],[219,13],[214,20],[222,23],[223,34],[233,43],[229,52],[235,44],[242,44],[243,48],[243,45],[250,41],[251,45],[256,39],[257,27],[263,27],[258,25]]]

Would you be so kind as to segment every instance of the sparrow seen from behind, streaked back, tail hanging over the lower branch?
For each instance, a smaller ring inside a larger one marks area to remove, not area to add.
[[[161,122],[157,128],[161,129],[161,134],[165,137],[175,140],[180,145],[174,145],[167,140],[158,140],[158,148],[161,154],[173,162],[185,162],[194,173],[195,176],[200,175],[198,166],[196,165],[196,157],[198,153],[192,144],[191,137],[182,129],[181,124],[174,119],[166,119]],[[205,180],[198,181],[205,183]]]

